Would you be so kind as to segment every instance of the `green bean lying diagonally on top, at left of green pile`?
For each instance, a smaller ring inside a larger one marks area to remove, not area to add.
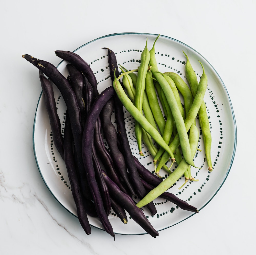
[[[114,78],[113,87],[116,91],[117,96],[120,101],[123,103],[124,107],[130,114],[133,116],[135,121],[137,121],[142,128],[151,135],[151,137],[170,154],[171,157],[174,157],[173,152],[170,150],[169,146],[165,143],[162,136],[159,132],[148,122],[148,120],[143,116],[140,110],[137,109],[129,99],[129,97],[125,94],[125,91],[120,84],[118,78]]]

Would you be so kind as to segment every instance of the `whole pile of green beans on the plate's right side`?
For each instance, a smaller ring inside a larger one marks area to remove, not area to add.
[[[194,156],[199,150],[199,129],[196,126],[196,118],[199,118],[202,130],[208,170],[212,170],[211,134],[204,103],[208,79],[204,66],[199,61],[202,66],[202,75],[198,82],[188,56],[183,51],[187,57],[185,69],[188,84],[174,72],[161,73],[155,58],[155,43],[158,37],[151,50],[147,49],[146,41],[138,69],[128,71],[121,66],[122,74],[115,77],[113,82],[120,101],[135,120],[139,154],[143,156],[141,151],[143,141],[154,158],[156,175],[161,177],[160,169],[166,170],[169,174],[163,182],[137,203],[138,207],[153,201],[182,176],[185,177],[185,183],[188,180],[196,181],[191,174],[191,166],[196,167]],[[166,166],[168,161],[171,161],[170,167]],[[177,168],[172,172],[171,167],[174,162]]]

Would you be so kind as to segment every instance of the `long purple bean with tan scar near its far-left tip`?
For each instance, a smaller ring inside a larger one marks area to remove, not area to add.
[[[83,128],[80,121],[80,110],[77,104],[76,95],[71,88],[68,80],[59,72],[59,70],[51,63],[36,59],[28,54],[22,55],[24,59],[36,66],[57,86],[66,103],[67,110],[70,116],[71,129],[74,138],[74,145],[77,152],[77,163],[79,171],[79,181],[81,182],[81,191],[88,199],[90,199],[90,192],[84,171],[82,160],[82,135]]]

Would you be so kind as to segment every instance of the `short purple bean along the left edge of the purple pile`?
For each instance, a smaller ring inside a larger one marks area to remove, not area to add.
[[[50,120],[52,140],[61,158],[64,160],[63,137],[61,134],[61,124],[57,113],[53,87],[50,80],[44,76],[42,71],[39,71],[39,78],[45,95],[45,106]]]

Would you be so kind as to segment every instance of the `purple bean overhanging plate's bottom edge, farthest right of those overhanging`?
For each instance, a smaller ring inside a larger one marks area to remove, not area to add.
[[[123,193],[118,186],[111,181],[106,173],[102,172],[102,174],[105,178],[106,184],[108,185],[110,194],[114,196],[115,200],[120,204],[120,206],[122,206],[130,214],[132,219],[148,234],[153,237],[157,237],[159,234],[148,221],[143,211],[136,206],[133,199],[129,195]]]

